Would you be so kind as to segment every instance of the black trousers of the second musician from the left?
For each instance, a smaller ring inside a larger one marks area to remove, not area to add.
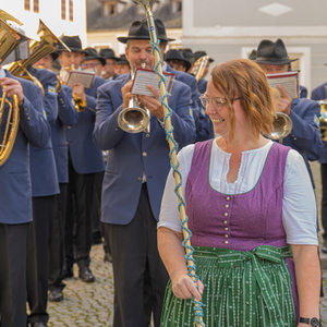
[[[33,221],[28,228],[26,282],[31,310],[28,323],[47,323],[49,247],[55,218],[55,195],[33,197]]]

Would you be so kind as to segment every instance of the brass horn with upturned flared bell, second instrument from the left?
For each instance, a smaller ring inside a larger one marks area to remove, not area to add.
[[[70,49],[50,31],[49,27],[46,26],[41,20],[39,20],[37,35],[40,39],[39,41],[29,40],[29,57],[10,63],[8,70],[15,76],[27,78],[34,82],[41,88],[45,95],[41,83],[35,76],[33,76],[27,69],[45,56],[56,50],[65,49],[66,51],[70,51]]]

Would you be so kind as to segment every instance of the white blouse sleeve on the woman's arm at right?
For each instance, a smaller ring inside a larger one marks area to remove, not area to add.
[[[289,244],[318,245],[314,191],[304,160],[293,149],[283,178],[282,222]]]

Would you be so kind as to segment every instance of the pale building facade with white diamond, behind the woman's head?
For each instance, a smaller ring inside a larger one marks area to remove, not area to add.
[[[247,58],[262,39],[281,38],[299,58],[300,84],[311,90],[327,81],[327,1],[183,0],[185,48],[205,50],[216,64]]]

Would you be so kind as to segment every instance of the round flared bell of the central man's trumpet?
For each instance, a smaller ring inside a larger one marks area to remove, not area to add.
[[[118,125],[128,133],[141,133],[149,126],[149,114],[146,109],[130,107],[118,116]]]

